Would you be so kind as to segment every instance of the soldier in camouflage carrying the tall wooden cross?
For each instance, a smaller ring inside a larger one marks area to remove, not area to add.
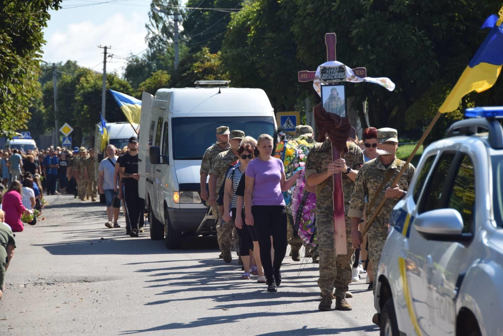
[[[319,248],[319,279],[318,286],[321,290],[319,310],[330,310],[333,288],[336,288],[336,309],[351,310],[351,305],[346,301],[346,292],[352,278],[352,263],[345,268],[342,264],[346,255],[337,255],[334,240],[335,230],[333,224],[333,175],[341,172],[344,192],[344,211],[349,211],[353,184],[358,169],[364,162],[360,147],[348,142],[348,153],[341,159],[332,162],[331,143],[327,138],[323,143],[317,143],[307,156],[306,181],[309,185],[316,185],[316,237]],[[327,182],[323,185],[323,181]],[[351,249],[351,221],[346,220],[346,237],[348,250]]]

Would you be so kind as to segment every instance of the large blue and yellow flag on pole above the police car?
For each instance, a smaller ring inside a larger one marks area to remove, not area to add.
[[[466,94],[478,93],[492,87],[501,72],[503,65],[503,25],[496,15],[488,17],[482,28],[491,28],[475,56],[466,67],[449,96],[440,107],[441,113],[451,112],[458,108],[459,101]]]

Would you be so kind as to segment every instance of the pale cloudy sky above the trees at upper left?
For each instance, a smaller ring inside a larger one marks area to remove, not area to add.
[[[47,62],[76,60],[78,65],[103,71],[103,49],[107,53],[107,73],[122,75],[127,56],[141,55],[151,0],[63,0],[62,9],[50,11],[42,59]],[[182,1],[185,4],[186,1]],[[74,8],[73,8],[74,7]]]

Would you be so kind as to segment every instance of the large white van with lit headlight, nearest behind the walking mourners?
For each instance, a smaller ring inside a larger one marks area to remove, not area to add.
[[[165,232],[167,248],[180,248],[182,233],[216,233],[200,198],[199,170],[222,125],[254,138],[272,135],[276,121],[266,93],[228,87],[160,89],[155,97],[143,92],[139,196],[149,212],[150,238],[163,239]]]

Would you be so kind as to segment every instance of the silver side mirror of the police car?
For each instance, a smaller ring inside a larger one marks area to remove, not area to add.
[[[463,218],[454,209],[425,212],[414,221],[416,231],[428,240],[452,240],[463,233]]]

